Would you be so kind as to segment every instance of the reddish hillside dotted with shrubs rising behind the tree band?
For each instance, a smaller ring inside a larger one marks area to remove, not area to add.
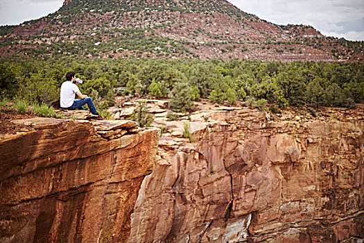
[[[67,0],[60,10],[0,28],[0,55],[44,58],[364,60],[363,42],[311,26],[278,26],[225,0]]]

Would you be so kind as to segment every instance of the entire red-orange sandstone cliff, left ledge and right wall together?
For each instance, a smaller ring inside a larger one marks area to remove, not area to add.
[[[156,115],[158,146],[131,121],[17,122],[2,242],[363,242],[363,110]]]

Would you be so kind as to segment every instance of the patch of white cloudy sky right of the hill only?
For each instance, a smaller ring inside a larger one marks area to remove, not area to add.
[[[308,24],[324,35],[330,33],[348,40],[364,40],[363,0],[229,1],[274,24]]]

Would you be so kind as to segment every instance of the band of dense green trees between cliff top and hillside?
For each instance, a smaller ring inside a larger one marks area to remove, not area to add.
[[[115,87],[133,97],[169,97],[177,112],[193,110],[200,98],[231,104],[248,99],[248,106],[255,106],[255,100],[263,110],[268,103],[279,109],[288,105],[354,108],[364,100],[364,65],[358,62],[68,57],[0,58],[0,96],[49,104],[58,99],[64,74],[70,70],[84,80],[81,92],[92,97],[100,110],[114,105]]]

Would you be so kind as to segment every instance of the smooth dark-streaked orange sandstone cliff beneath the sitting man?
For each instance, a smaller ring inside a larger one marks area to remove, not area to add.
[[[158,130],[134,121],[28,119],[1,137],[0,242],[125,242]]]

